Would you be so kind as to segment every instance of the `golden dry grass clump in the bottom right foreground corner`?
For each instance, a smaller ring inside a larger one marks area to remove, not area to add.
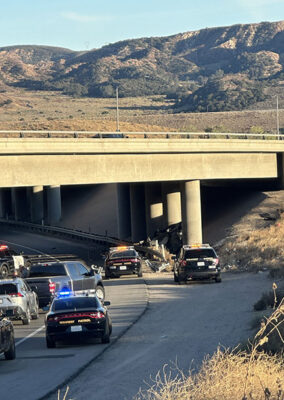
[[[186,377],[179,371],[172,377],[175,374],[175,370],[164,368],[154,385],[147,392],[140,392],[136,400],[284,399],[283,361],[264,353],[251,361],[245,352],[234,354],[218,349],[203,361],[197,374]]]

